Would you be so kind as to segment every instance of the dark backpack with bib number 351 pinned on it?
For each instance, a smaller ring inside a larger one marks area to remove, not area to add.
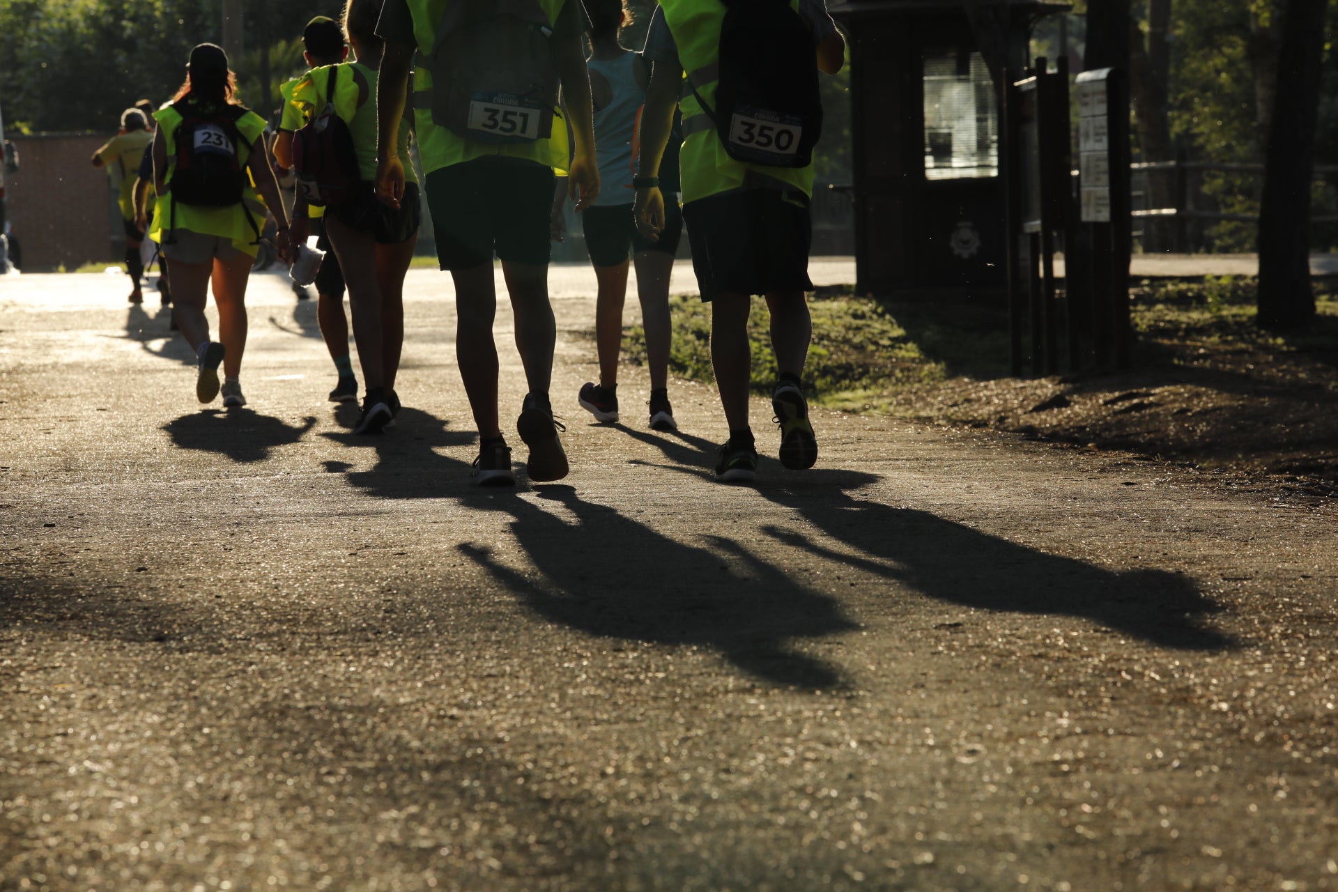
[[[427,62],[432,120],[479,143],[551,136],[558,104],[551,35],[537,0],[447,4]]]

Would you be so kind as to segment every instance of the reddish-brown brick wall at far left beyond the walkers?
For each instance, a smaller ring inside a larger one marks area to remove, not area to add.
[[[20,167],[5,177],[5,191],[24,271],[123,259],[124,233],[111,178],[88,163],[110,135],[9,136]]]

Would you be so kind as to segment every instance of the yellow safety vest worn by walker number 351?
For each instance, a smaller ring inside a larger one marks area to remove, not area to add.
[[[436,45],[436,29],[442,21],[442,13],[447,4],[466,0],[407,0],[409,15],[413,19],[413,40],[417,43],[419,53],[415,56],[413,70],[413,122],[417,126],[419,158],[423,160],[423,173],[429,174],[442,167],[459,164],[475,158],[487,155],[503,155],[507,158],[522,158],[549,167],[567,166],[566,140],[562,146],[553,139],[538,139],[533,143],[487,144],[476,143],[456,134],[432,120],[432,72],[423,64],[423,55],[429,53]],[[533,0],[547,16],[549,24],[558,20],[558,12],[569,0]],[[559,158],[561,155],[561,158]]]

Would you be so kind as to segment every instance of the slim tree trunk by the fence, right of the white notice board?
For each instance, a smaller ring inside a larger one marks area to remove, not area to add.
[[[1167,44],[1167,28],[1171,21],[1171,0],[1149,0],[1148,33],[1144,44],[1143,29],[1131,17],[1129,25],[1129,88],[1132,92],[1135,124],[1139,131],[1139,144],[1143,147],[1143,160],[1172,160],[1175,148],[1171,144],[1171,120],[1167,115],[1169,102],[1171,53]],[[1175,171],[1148,173],[1148,206],[1175,207],[1179,195],[1175,189]],[[1144,250],[1149,253],[1184,250],[1176,233],[1179,223],[1173,218],[1147,218],[1144,223]]]

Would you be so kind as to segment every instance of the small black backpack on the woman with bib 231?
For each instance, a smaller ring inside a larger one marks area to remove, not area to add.
[[[246,110],[227,103],[197,106],[189,100],[178,102],[173,108],[182,116],[174,135],[177,167],[167,183],[173,205],[240,205],[250,183],[238,155],[244,138],[237,130],[237,120]]]

